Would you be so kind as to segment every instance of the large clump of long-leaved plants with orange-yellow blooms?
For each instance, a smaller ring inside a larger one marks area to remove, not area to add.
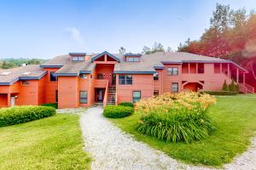
[[[136,111],[142,114],[137,131],[167,142],[186,142],[207,138],[214,122],[207,115],[216,99],[209,94],[183,92],[163,94],[137,102]]]

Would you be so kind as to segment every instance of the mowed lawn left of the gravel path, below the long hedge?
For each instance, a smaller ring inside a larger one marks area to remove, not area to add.
[[[0,127],[0,141],[0,169],[90,168],[76,115]]]

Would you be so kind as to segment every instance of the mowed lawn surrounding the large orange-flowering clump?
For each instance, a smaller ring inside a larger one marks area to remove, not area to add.
[[[216,132],[207,139],[191,144],[166,143],[137,133],[135,127],[140,117],[138,114],[110,120],[125,132],[133,134],[137,140],[166,152],[172,158],[192,164],[221,167],[247,150],[251,137],[255,135],[256,98],[248,98],[248,95],[217,97],[217,104],[211,107],[209,115],[217,122]]]

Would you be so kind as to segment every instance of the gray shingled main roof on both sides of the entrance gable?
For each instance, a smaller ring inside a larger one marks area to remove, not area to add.
[[[59,71],[56,71],[56,75],[78,75],[79,72],[90,73],[95,68],[95,64],[91,63],[90,60],[96,57],[98,54],[92,54],[88,61],[80,61],[80,62],[73,62],[70,61],[69,55],[61,55],[55,57],[54,59],[50,59],[49,61],[45,62],[45,65],[64,65],[61,67]],[[182,64],[185,62],[205,62],[205,63],[213,63],[213,62],[220,62],[220,63],[233,63],[230,60],[226,59],[219,59],[213,57],[207,57],[198,54],[189,54],[184,52],[157,52],[154,54],[143,54],[140,57],[140,62],[127,62],[125,61],[125,56],[120,54],[112,54],[114,57],[120,59],[117,64],[114,65],[114,72],[121,73],[121,72],[154,72],[154,69],[160,69],[167,63],[177,63]],[[239,66],[239,65],[237,65]],[[240,66],[239,66],[240,67]],[[240,67],[241,68],[241,67]],[[244,70],[243,68],[241,68]]]

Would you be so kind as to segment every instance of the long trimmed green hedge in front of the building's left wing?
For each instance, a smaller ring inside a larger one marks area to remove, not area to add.
[[[55,108],[47,106],[15,106],[0,109],[0,127],[30,122],[55,115]]]

